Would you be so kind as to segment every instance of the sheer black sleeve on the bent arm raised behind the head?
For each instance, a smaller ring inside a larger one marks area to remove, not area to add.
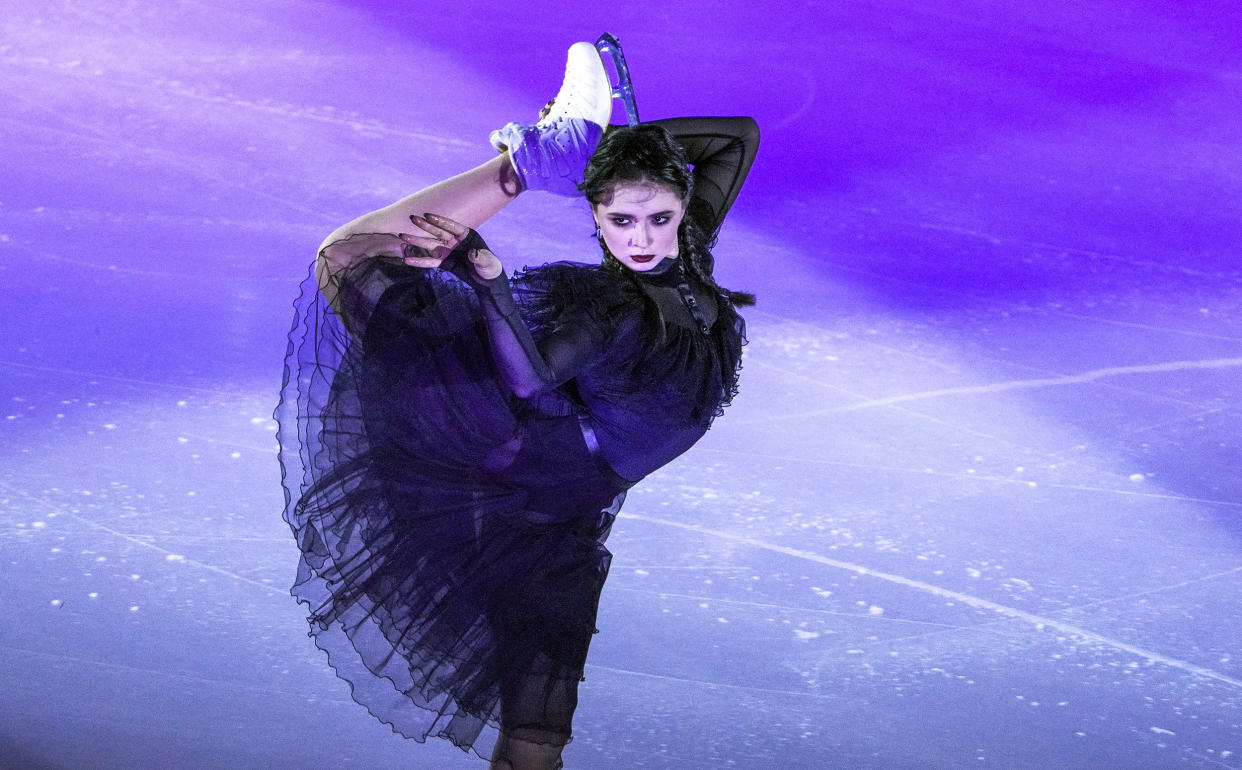
[[[759,150],[753,118],[667,118],[655,120],[677,139],[694,166],[689,215],[714,236],[729,212]]]

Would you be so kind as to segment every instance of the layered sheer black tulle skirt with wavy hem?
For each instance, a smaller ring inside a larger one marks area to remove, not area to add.
[[[564,744],[623,494],[571,407],[507,394],[468,288],[354,278],[303,284],[276,411],[310,635],[402,735]]]

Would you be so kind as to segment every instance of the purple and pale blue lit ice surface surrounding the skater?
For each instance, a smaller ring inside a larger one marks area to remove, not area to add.
[[[607,30],[645,118],[759,120],[760,303],[566,766],[1242,768],[1238,5],[535,5],[6,6],[0,765],[484,765],[306,637],[271,414],[320,238]],[[543,194],[484,235],[597,256]]]

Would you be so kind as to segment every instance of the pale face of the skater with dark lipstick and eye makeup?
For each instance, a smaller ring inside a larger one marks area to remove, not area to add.
[[[595,205],[604,243],[621,265],[640,273],[677,256],[677,230],[684,215],[674,191],[651,183],[621,183],[611,199]]]

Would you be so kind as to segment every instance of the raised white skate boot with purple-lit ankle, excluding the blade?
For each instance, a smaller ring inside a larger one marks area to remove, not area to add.
[[[599,51],[574,43],[551,109],[534,125],[509,123],[492,132],[492,145],[508,150],[523,190],[578,195],[586,161],[612,116],[612,86]]]

